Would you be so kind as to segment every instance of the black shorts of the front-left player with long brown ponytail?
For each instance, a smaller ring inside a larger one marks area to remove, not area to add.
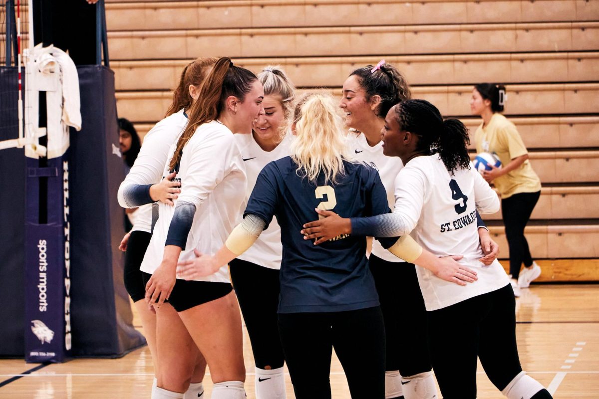
[[[144,287],[152,275],[141,272]],[[213,281],[185,281],[177,279],[170,298],[166,301],[173,305],[177,312],[191,309],[194,306],[224,297],[233,291],[231,283]]]

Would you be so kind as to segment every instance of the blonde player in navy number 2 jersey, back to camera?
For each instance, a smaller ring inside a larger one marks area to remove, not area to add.
[[[216,255],[180,263],[182,278],[210,275],[249,248],[273,215],[281,227],[279,332],[298,399],[330,398],[331,350],[335,348],[353,398],[385,397],[385,333],[379,300],[365,257],[364,237],[341,235],[313,246],[297,232],[314,209],[346,216],[388,212],[379,173],[350,154],[331,96],[308,95],[295,108],[296,138],[291,156],[269,163],[244,212],[243,222]],[[398,243],[395,243],[395,242]],[[385,245],[410,243],[409,237]],[[214,253],[214,252],[207,252]],[[452,258],[438,260],[420,248],[402,254],[441,273],[447,281],[467,284],[476,276]],[[459,258],[459,257],[458,257]],[[442,270],[442,271],[441,271]],[[361,348],[356,350],[356,343]],[[208,361],[210,364],[210,361]]]

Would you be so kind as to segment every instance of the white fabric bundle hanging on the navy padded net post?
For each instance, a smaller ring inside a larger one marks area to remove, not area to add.
[[[58,47],[35,46],[29,50],[25,90],[25,136],[40,137],[39,93],[46,92],[48,159],[62,156],[69,148],[69,126],[81,130],[79,77],[71,57]],[[34,148],[25,156],[38,158]]]

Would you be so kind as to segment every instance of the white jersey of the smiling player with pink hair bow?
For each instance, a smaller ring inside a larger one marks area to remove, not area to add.
[[[397,178],[397,174],[400,173],[401,168],[404,167],[400,157],[388,157],[383,154],[382,141],[374,147],[370,147],[364,133],[356,134],[354,132],[349,132],[347,134],[347,141],[350,146],[349,150],[352,153],[355,153],[355,159],[365,162],[379,171],[380,179],[387,191],[389,208],[393,209],[395,206],[395,178]],[[383,248],[383,246],[380,245],[379,240],[373,240],[372,253],[376,257],[389,262],[404,261]]]

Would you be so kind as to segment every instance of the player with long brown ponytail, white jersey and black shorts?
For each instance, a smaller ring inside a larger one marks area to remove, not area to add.
[[[220,58],[169,151],[163,175],[177,172],[181,193],[174,208],[159,205],[160,217],[141,263],[146,300],[156,309],[160,367],[154,399],[183,397],[189,378],[181,368],[192,361],[190,348],[195,346],[210,367],[212,398],[246,397],[241,316],[227,268],[183,281],[176,278],[176,266],[179,259],[193,257],[194,250],[216,251],[233,229],[246,188],[233,132],[252,132],[253,121],[264,114],[263,98],[256,75]]]

